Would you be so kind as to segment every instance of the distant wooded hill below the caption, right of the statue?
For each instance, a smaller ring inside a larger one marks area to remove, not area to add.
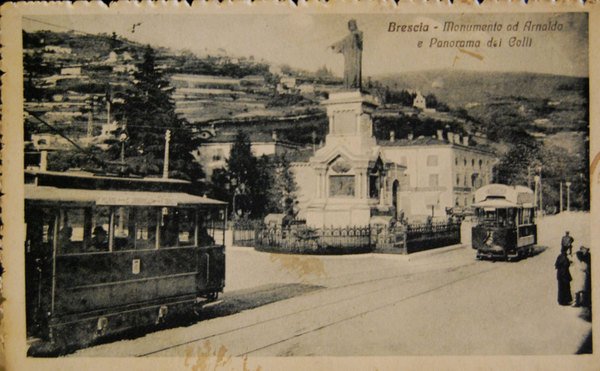
[[[520,126],[530,134],[586,132],[588,79],[534,73],[426,71],[382,76],[396,89],[434,94],[454,111],[475,119],[474,130],[501,140],[498,126]]]

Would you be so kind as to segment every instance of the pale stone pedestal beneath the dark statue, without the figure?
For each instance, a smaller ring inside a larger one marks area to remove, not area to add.
[[[385,163],[373,136],[377,101],[360,91],[331,94],[325,146],[309,160],[316,172],[316,197],[306,209],[314,227],[368,226],[385,192]]]

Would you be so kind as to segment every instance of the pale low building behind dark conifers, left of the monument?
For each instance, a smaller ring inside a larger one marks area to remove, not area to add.
[[[231,148],[235,143],[236,133],[218,133],[215,135],[213,131],[211,135],[203,134],[201,133],[200,136],[206,139],[207,142],[203,143],[197,151],[193,152],[193,155],[196,161],[204,167],[207,178],[210,178],[215,169],[225,168]],[[271,135],[266,133],[249,133],[249,136],[250,148],[256,157],[282,155],[302,148],[296,143],[279,138],[276,132],[273,132]]]

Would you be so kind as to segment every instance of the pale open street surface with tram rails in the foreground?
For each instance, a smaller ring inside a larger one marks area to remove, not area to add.
[[[550,216],[537,254],[512,263],[478,261],[470,246],[408,257],[228,248],[226,291],[204,320],[71,356],[575,354],[591,323],[557,304],[565,230],[589,246],[589,214]]]

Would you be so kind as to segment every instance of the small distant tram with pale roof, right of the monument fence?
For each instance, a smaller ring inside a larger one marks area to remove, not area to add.
[[[537,243],[533,191],[489,184],[475,192],[476,224],[471,230],[477,258],[512,260],[533,254]]]

